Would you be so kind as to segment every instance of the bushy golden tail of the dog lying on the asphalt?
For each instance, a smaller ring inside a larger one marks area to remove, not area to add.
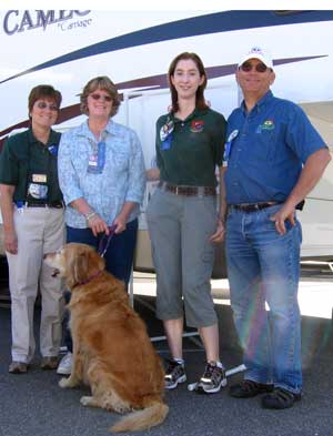
[[[167,404],[153,402],[142,410],[133,412],[110,428],[110,432],[140,432],[147,430],[155,425],[162,424],[169,412]]]

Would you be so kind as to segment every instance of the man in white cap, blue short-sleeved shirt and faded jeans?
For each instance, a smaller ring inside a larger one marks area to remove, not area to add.
[[[262,407],[281,409],[302,392],[296,209],[331,158],[302,109],[272,94],[274,79],[272,60],[260,48],[241,59],[236,80],[244,101],[228,120],[221,217],[231,305],[248,368],[230,395],[265,394]]]

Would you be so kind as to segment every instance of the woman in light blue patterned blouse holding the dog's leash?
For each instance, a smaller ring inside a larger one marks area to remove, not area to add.
[[[145,173],[137,133],[112,121],[119,105],[118,91],[108,77],[87,83],[81,111],[88,120],[62,134],[58,171],[67,204],[67,241],[98,247],[102,235],[114,226],[104,254],[107,270],[128,284]],[[61,365],[58,372],[64,373]]]

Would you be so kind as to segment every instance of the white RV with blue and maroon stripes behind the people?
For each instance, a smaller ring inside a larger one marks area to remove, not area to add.
[[[194,51],[209,77],[206,99],[225,116],[240,102],[238,59],[261,45],[274,59],[273,92],[303,107],[327,145],[333,144],[333,11],[221,11],[214,13],[92,10],[0,11],[0,143],[28,125],[30,89],[50,83],[63,104],[56,129],[82,122],[78,94],[107,74],[123,93],[117,120],[137,130],[147,168],[154,163],[154,122],[170,104],[167,70],[182,51]],[[333,164],[299,214],[305,258],[333,260]],[[135,267],[150,270],[142,207]],[[222,247],[214,275],[224,274]]]

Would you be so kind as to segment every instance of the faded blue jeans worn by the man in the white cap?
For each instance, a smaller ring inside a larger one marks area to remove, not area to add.
[[[225,251],[231,306],[244,351],[246,379],[302,391],[297,303],[302,230],[285,222],[281,236],[270,216],[281,205],[245,213],[230,210]],[[266,312],[265,303],[270,311]]]

